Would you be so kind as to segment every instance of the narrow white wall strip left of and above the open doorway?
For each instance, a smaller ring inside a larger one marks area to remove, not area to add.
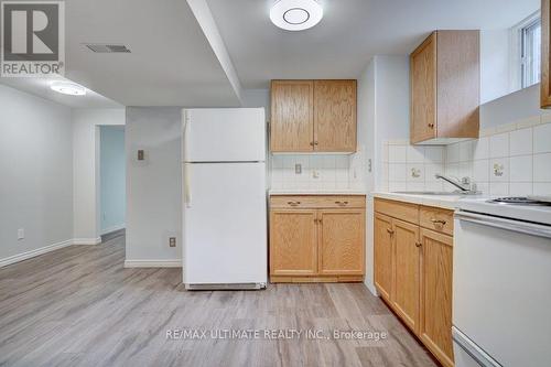
[[[125,125],[125,109],[74,109],[73,211],[77,244],[100,241],[99,126]]]

